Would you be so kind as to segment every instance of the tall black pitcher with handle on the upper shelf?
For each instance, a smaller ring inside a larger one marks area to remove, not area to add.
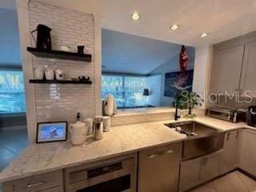
[[[37,29],[31,32],[34,38],[33,33],[38,31],[37,40],[34,38],[38,50],[51,50],[50,30],[50,27],[39,24]]]

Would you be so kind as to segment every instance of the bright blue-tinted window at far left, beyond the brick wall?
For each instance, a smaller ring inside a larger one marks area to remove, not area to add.
[[[26,111],[22,71],[0,70],[0,114]]]

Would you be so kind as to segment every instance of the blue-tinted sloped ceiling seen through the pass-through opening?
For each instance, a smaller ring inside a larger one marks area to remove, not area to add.
[[[177,57],[181,45],[124,34],[113,30],[102,30],[102,71],[122,74],[150,74],[158,66]],[[194,49],[187,47],[194,57]],[[178,61],[177,61],[178,66]],[[171,63],[170,69],[176,69]]]

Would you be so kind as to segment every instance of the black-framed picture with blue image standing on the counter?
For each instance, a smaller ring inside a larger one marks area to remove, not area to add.
[[[37,143],[66,141],[67,122],[38,122]]]

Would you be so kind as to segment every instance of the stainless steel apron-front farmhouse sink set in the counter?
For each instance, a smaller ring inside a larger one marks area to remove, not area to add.
[[[181,134],[186,134],[182,159],[196,158],[222,150],[225,134],[198,122],[177,122],[165,124]]]

